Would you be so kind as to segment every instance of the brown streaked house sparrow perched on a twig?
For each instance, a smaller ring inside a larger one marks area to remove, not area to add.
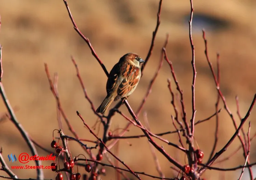
[[[113,101],[129,96],[137,87],[140,77],[140,64],[145,62],[137,54],[125,54],[109,73],[106,83],[107,95],[96,112],[104,114]]]

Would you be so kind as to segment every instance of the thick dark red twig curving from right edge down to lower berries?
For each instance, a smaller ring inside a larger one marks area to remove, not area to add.
[[[251,114],[251,111],[253,109],[253,106],[255,104],[256,101],[256,94],[254,95],[252,104],[250,106],[250,108],[248,109],[246,115],[244,116],[244,118],[242,119],[238,129],[236,130],[236,132],[233,134],[233,136],[230,138],[230,140],[228,141],[228,143],[218,152],[216,152],[216,154],[213,156],[213,158],[210,160],[210,162],[208,162],[206,165],[210,166],[224,151],[227,150],[228,146],[233,142],[233,140],[238,136],[239,131],[241,130],[241,128],[243,127],[243,124],[245,123],[245,121],[247,120],[247,118],[249,117],[249,115]],[[205,168],[202,168],[199,170],[199,173],[203,173],[205,170]]]

